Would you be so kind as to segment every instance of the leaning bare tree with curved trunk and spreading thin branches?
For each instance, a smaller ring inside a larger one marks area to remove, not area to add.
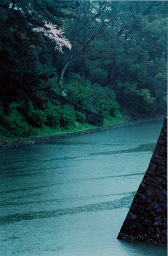
[[[122,14],[119,10],[114,13],[111,13],[109,17],[103,17],[103,12],[105,12],[107,7],[107,2],[103,1],[87,1],[82,3],[80,1],[81,6],[79,11],[76,13],[76,20],[82,26],[82,39],[79,41],[78,39],[74,39],[79,44],[77,46],[77,50],[74,50],[73,53],[67,58],[65,63],[63,63],[62,68],[60,70],[59,75],[59,86],[62,85],[63,75],[65,70],[70,65],[71,62],[76,60],[79,54],[82,53],[82,68],[84,68],[85,62],[85,50],[87,47],[91,46],[91,42],[95,39],[102,37],[106,34],[106,28],[110,26],[114,21]],[[80,14],[79,14],[80,13]],[[81,18],[82,17],[82,18]],[[76,30],[75,30],[76,31]],[[78,30],[79,31],[79,30]],[[79,31],[80,33],[80,31]],[[112,35],[114,36],[114,35]],[[91,46],[93,47],[93,46]]]

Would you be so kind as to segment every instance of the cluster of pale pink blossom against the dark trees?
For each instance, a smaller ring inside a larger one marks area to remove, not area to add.
[[[66,46],[68,49],[71,49],[71,44],[66,39],[63,34],[63,29],[58,29],[56,25],[52,25],[50,22],[45,21],[44,27],[34,28],[34,31],[43,33],[45,37],[51,39],[55,43],[55,50],[62,52],[62,47]]]

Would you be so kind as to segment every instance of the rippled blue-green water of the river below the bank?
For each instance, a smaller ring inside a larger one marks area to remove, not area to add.
[[[165,245],[116,239],[163,121],[6,149],[1,256],[161,256]]]

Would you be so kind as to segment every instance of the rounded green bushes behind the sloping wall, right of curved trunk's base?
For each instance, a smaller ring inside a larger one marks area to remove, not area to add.
[[[67,97],[82,106],[87,106],[103,115],[115,116],[119,111],[114,91],[107,87],[92,85],[79,74],[70,74],[65,85]]]

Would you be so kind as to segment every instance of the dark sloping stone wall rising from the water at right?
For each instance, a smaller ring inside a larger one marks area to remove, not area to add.
[[[167,243],[167,118],[117,238]]]

